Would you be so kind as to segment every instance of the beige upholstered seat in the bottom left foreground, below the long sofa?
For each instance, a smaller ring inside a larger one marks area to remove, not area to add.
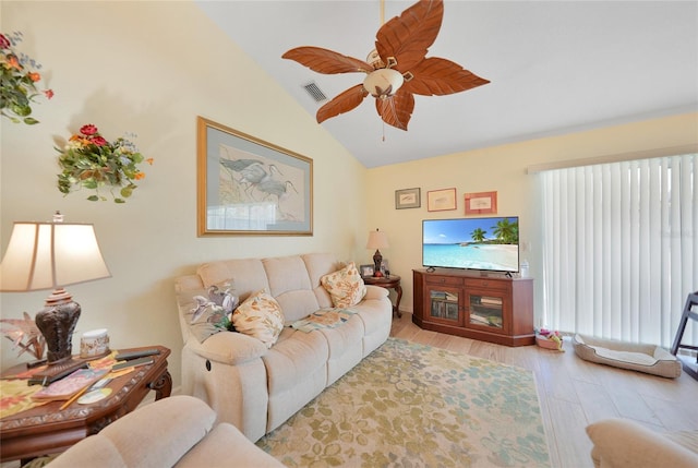
[[[51,468],[201,468],[284,465],[232,424],[215,425],[202,400],[179,395],[145,405],[91,435],[50,461]],[[40,460],[39,460],[40,461]]]

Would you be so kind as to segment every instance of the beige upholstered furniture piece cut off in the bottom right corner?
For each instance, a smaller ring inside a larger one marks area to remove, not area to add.
[[[612,418],[587,427],[597,468],[695,468],[698,454],[637,422]]]

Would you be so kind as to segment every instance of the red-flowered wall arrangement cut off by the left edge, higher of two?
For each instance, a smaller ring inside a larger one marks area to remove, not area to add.
[[[0,113],[15,123],[33,125],[38,120],[31,117],[32,103],[44,94],[53,97],[53,91],[40,92],[36,86],[41,80],[41,65],[25,53],[15,51],[22,41],[22,33],[0,34]]]

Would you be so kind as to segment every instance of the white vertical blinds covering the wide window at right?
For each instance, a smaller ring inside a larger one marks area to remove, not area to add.
[[[698,290],[697,181],[696,154],[542,171],[546,325],[670,347]]]

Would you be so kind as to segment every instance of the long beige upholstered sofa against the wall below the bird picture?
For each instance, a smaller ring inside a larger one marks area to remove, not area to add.
[[[332,254],[237,259],[201,265],[177,279],[184,347],[182,393],[206,401],[251,441],[257,441],[359,363],[388,337],[393,307],[386,289],[365,286],[356,312],[335,328],[310,333],[290,327],[322,308],[333,307],[321,278],[342,267]],[[222,332],[200,341],[190,325],[196,295],[212,285],[231,284],[244,301],[266,289],[284,312],[286,326],[267,349],[258,339]]]

